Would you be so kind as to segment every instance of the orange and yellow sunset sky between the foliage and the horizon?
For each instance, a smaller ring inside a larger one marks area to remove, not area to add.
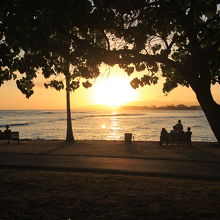
[[[94,80],[89,89],[81,87],[71,94],[72,109],[104,105],[116,107],[120,105],[198,105],[194,92],[190,88],[179,86],[168,96],[162,92],[163,79],[157,85],[132,89],[129,85],[134,77],[117,66],[102,67],[102,74]],[[46,89],[43,78],[35,80],[34,94],[26,99],[17,88],[16,82],[6,82],[0,87],[0,109],[65,109],[65,91]],[[220,87],[213,87],[215,100],[220,103]]]

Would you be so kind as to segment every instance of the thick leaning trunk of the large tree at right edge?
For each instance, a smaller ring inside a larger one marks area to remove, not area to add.
[[[220,105],[214,101],[210,85],[202,83],[199,88],[194,89],[194,92],[216,139],[220,143]]]

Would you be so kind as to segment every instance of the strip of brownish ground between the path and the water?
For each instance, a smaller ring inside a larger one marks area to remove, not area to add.
[[[1,152],[220,162],[220,145],[211,142],[159,146],[158,142],[144,141],[132,144],[104,140],[78,140],[73,144],[62,140],[22,140],[20,144],[0,141]]]

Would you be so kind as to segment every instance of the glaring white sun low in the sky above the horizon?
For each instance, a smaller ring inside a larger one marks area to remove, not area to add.
[[[137,98],[137,91],[130,86],[129,79],[111,77],[94,85],[93,101],[99,105],[117,107]]]

